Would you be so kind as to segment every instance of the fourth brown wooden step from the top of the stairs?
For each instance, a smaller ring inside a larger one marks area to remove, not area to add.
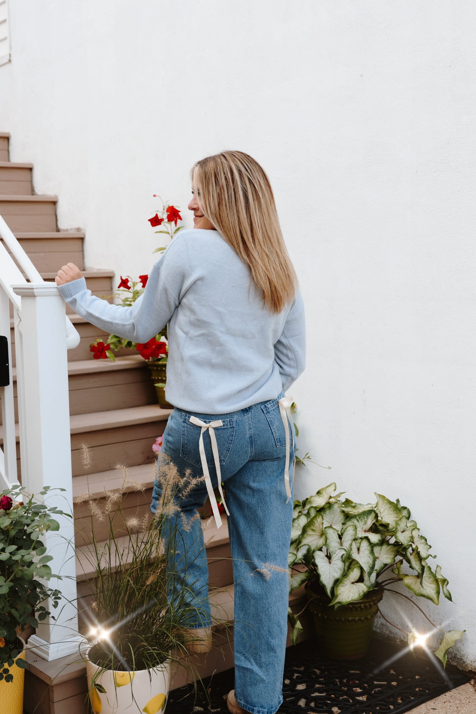
[[[84,233],[81,231],[16,233],[15,235],[26,255],[29,256],[40,273],[56,271],[56,274],[61,266],[69,262],[74,263],[80,270],[84,268]]]

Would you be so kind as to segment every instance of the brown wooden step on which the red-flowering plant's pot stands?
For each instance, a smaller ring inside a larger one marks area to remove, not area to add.
[[[52,397],[53,398],[53,397]],[[158,404],[98,411],[71,416],[71,462],[73,476],[84,472],[81,463],[81,445],[91,448],[95,471],[108,471],[118,463],[138,466],[153,460],[152,444],[161,436],[170,409]],[[17,463],[20,473],[19,427],[16,424]],[[0,426],[0,444],[3,427]]]

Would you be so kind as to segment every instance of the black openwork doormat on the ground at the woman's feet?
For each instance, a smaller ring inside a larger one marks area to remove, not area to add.
[[[404,654],[402,654],[404,653]],[[166,714],[228,714],[234,670],[171,692]],[[467,683],[470,677],[440,660],[373,640],[362,660],[339,662],[319,653],[313,640],[286,650],[280,714],[402,714]],[[208,696],[208,698],[207,698]]]

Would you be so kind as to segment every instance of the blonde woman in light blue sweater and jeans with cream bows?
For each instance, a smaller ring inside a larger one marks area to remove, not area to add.
[[[261,166],[224,151],[198,161],[191,178],[194,230],[173,239],[132,307],[91,296],[73,263],[56,283],[76,313],[121,337],[145,343],[168,324],[167,399],[175,408],[163,452],[181,473],[206,477],[181,503],[190,582],[197,596],[208,587],[196,509],[208,493],[220,526],[213,488],[223,482],[235,581],[228,709],[274,714],[283,701],[295,450],[284,390],[304,369],[303,301]],[[153,510],[159,496],[156,484]],[[191,648],[208,651],[209,608],[206,622],[193,625]]]

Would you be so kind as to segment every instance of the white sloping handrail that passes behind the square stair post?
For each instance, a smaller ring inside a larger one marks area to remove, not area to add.
[[[0,216],[0,237],[4,241],[5,245],[9,248],[12,256],[19,263],[21,270],[25,273],[26,277],[31,283],[44,283],[44,279],[41,277],[40,273],[36,270],[34,264],[31,262],[30,258],[26,255],[24,249],[21,247],[19,241],[11,232],[9,226],[6,225],[4,218]],[[4,291],[8,294],[14,306],[20,311],[20,298],[15,295],[14,291],[11,289],[13,284],[26,283],[26,279],[23,274],[16,266],[14,260],[9,256],[8,251],[4,246],[0,246],[0,257],[1,257],[1,270],[0,270],[0,285],[4,288]],[[72,350],[79,345],[80,337],[79,333],[74,327],[71,320],[66,316],[66,349]]]

